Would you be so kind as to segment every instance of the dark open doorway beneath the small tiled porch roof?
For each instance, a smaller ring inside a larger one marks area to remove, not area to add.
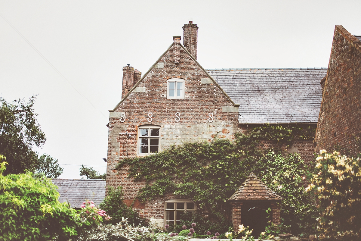
[[[243,203],[241,208],[242,224],[244,227],[249,226],[249,229],[253,229],[253,237],[257,238],[261,232],[265,231],[265,227],[268,225],[267,217],[269,216],[266,210],[270,206],[270,203],[265,202]]]

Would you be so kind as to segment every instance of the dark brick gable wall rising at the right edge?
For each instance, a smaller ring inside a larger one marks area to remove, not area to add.
[[[361,137],[361,42],[342,26],[335,26],[329,68],[323,86],[315,137],[320,149],[355,155]]]

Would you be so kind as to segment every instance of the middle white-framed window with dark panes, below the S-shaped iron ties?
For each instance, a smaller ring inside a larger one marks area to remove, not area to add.
[[[159,152],[160,126],[143,125],[138,127],[138,155],[145,156]]]

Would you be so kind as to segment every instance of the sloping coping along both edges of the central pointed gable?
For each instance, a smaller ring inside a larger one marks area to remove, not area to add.
[[[169,46],[169,48],[158,58],[158,60],[152,65],[151,68],[148,69],[147,73],[144,74],[144,76],[132,87],[132,89],[130,91],[128,91],[128,93],[124,96],[124,98],[117,104],[116,107],[114,107],[114,109],[110,109],[109,112],[114,112],[119,106],[120,104],[131,94],[131,92],[133,92],[135,90],[135,88],[139,85],[140,82],[142,82],[142,80],[148,75],[149,72],[151,72],[151,70],[153,68],[155,68],[155,66],[158,64],[158,62],[162,59],[162,57],[173,47],[174,42]],[[221,92],[223,93],[223,95],[226,96],[226,98],[231,102],[231,104],[235,107],[239,107],[239,104],[235,104],[233,102],[233,100],[227,95],[227,93],[221,88],[221,86],[218,85],[218,83],[212,78],[212,76],[210,76],[208,74],[208,72],[198,63],[198,61],[191,55],[191,53],[181,44],[179,43],[179,45],[181,46],[181,48],[183,48],[184,51],[186,51],[186,53],[191,57],[191,59],[203,70],[203,72],[206,74],[206,76],[208,76],[208,78],[210,78],[210,80],[214,83],[214,85],[216,85],[219,90],[221,90]]]

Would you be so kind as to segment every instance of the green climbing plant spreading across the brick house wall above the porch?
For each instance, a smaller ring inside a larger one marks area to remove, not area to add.
[[[235,142],[215,138],[212,143],[184,143],[155,155],[121,160],[116,169],[128,164],[129,177],[147,182],[138,192],[140,200],[174,193],[192,199],[214,220],[224,219],[229,213],[222,212],[225,202],[254,172],[284,197],[284,214],[295,216],[309,209],[300,185],[306,167],[299,154],[287,154],[285,149],[297,140],[313,139],[314,133],[311,126],[266,124],[236,134]],[[264,150],[264,141],[272,142],[272,149]]]

